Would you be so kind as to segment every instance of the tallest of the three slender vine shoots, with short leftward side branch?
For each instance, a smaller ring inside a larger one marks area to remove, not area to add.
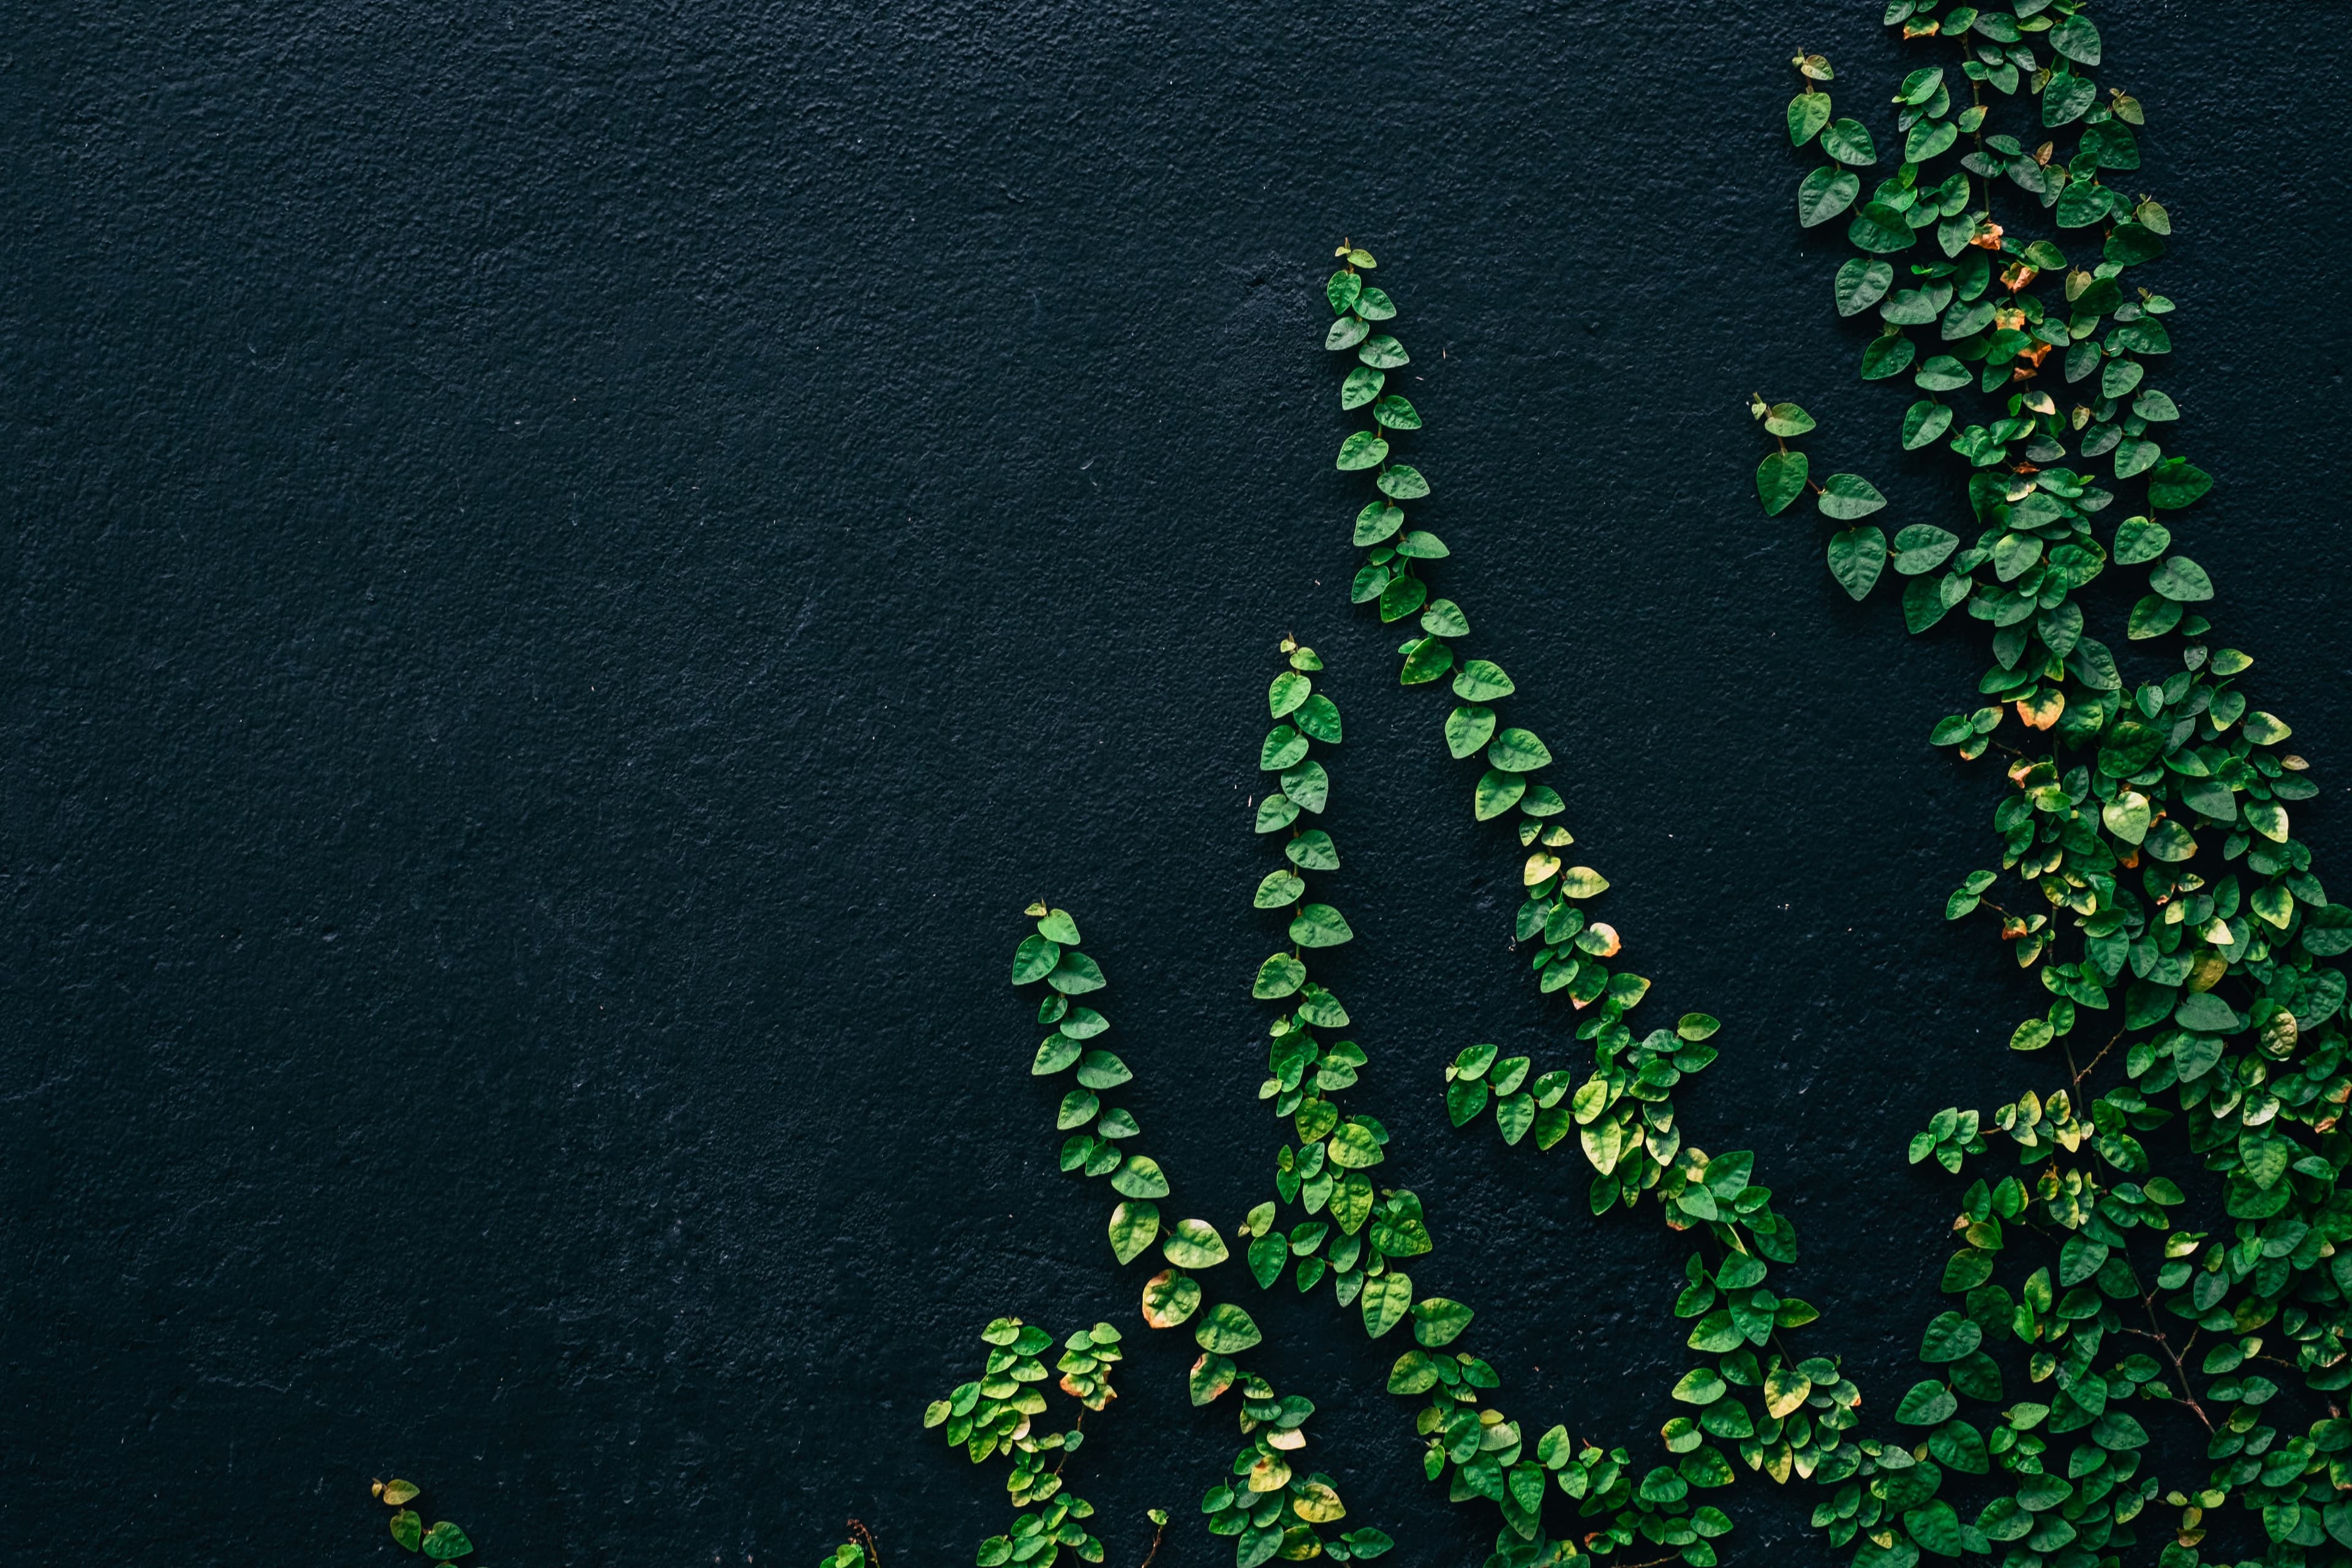
[[[1564,1143],[1576,1131],[1576,1147],[1592,1166],[1590,1208],[1595,1215],[1616,1204],[1635,1208],[1651,1194],[1661,1218],[1677,1232],[1693,1232],[1712,1244],[1693,1251],[1684,1269],[1686,1288],[1675,1300],[1675,1314],[1696,1319],[1689,1347],[1712,1361],[1682,1375],[1672,1394],[1696,1406],[1696,1415],[1665,1422],[1661,1436],[1675,1458],[1672,1467],[1651,1469],[1630,1486],[1635,1505],[1665,1505],[1646,1519],[1621,1519],[1602,1540],[1585,1540],[1604,1552],[1632,1540],[1632,1523],[1653,1542],[1682,1547],[1689,1563],[1712,1563],[1715,1549],[1677,1530],[1670,1519],[1686,1488],[1726,1486],[1733,1467],[1710,1439],[1736,1446],[1740,1462],[1776,1481],[1795,1476],[1844,1481],[1877,1465],[1879,1443],[1851,1443],[1860,1392],[1844,1378],[1835,1356],[1797,1356],[1780,1331],[1799,1328],[1818,1312],[1797,1298],[1771,1288],[1776,1262],[1795,1262],[1797,1232],[1771,1206],[1771,1190],[1752,1180],[1755,1157],[1745,1150],[1710,1157],[1684,1140],[1672,1091],[1684,1077],[1715,1060],[1710,1037],[1719,1030],[1708,1013],[1686,1013],[1675,1027],[1656,1027],[1637,1037],[1628,1016],[1649,994],[1651,983],[1611,959],[1623,938],[1606,922],[1590,919],[1595,898],[1609,891],[1609,879],[1590,865],[1566,865],[1557,853],[1573,844],[1559,818],[1566,802],[1534,778],[1550,764],[1550,748],[1531,729],[1505,726],[1496,705],[1517,693],[1517,682],[1486,658],[1470,658],[1456,644],[1470,637],[1470,618],[1454,599],[1430,597],[1430,562],[1449,555],[1446,545],[1423,529],[1411,529],[1404,501],[1430,494],[1428,477],[1395,461],[1395,442],[1404,430],[1421,428],[1418,409],[1385,390],[1390,371],[1409,364],[1392,331],[1371,331],[1371,322],[1395,317],[1395,301],[1364,282],[1374,259],[1359,247],[1338,249],[1341,270],[1327,284],[1336,315],[1324,346],[1352,350],[1352,364],[1341,383],[1341,409],[1371,409],[1374,430],[1350,433],[1338,451],[1341,470],[1369,470],[1378,498],[1355,520],[1355,543],[1364,564],[1355,576],[1357,604],[1374,604],[1385,623],[1414,621],[1418,637],[1402,649],[1399,682],[1435,686],[1451,672],[1454,703],[1446,708],[1442,736],[1461,762],[1484,762],[1470,790],[1477,820],[1515,813],[1519,849],[1529,851],[1519,879],[1524,903],[1512,924],[1512,940],[1534,947],[1531,971],[1543,994],[1564,992],[1573,1013],[1576,1039],[1590,1041],[1592,1058],[1583,1081],[1571,1070],[1534,1072],[1526,1056],[1503,1058],[1491,1044],[1465,1046],[1446,1067],[1446,1112],[1456,1126],[1491,1112],[1508,1145],[1534,1133],[1538,1152]],[[1402,404],[1402,407],[1399,407]],[[1625,1465],[1623,1450],[1613,1455]],[[1581,1476],[1562,1472],[1562,1488],[1578,1490]],[[1630,1481],[1630,1472],[1625,1474]],[[1623,1495],[1613,1502],[1623,1502]],[[1606,1502],[1604,1502],[1606,1507]],[[1529,1512],[1534,1505],[1529,1505]],[[1700,1533],[1722,1533],[1729,1519],[1703,1509]],[[1510,1516],[1510,1509],[1505,1509]],[[1510,1523],[1524,1526],[1526,1519]]]

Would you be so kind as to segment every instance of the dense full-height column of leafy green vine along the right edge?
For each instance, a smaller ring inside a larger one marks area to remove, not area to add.
[[[2251,705],[2253,658],[2218,644],[2216,585],[2176,548],[2213,480],[2166,451],[2180,407],[2150,383],[2176,306],[2138,268],[2173,223],[2110,183],[2140,169],[2147,110],[2114,85],[2100,96],[2105,47],[2077,0],[1896,0],[1886,21],[1929,52],[1893,94],[1900,160],[1863,200],[1872,129],[1832,118],[1830,63],[1799,54],[1790,143],[1828,162],[1799,181],[1797,216],[1846,216],[1860,254],[1832,299],[1879,317],[1860,374],[1910,378],[1900,447],[1966,465],[1978,534],[1917,522],[1889,541],[1863,522],[1884,496],[1856,475],[1816,484],[1788,444],[1811,416],[1762,397],[1776,449],[1757,494],[1778,515],[1811,491],[1846,524],[1828,567],[1853,599],[1886,567],[1907,578],[1910,632],[1957,609],[1985,625],[1983,705],[1931,743],[1994,755],[1999,870],[1971,870],[1945,914],[1997,922],[2046,994],[2009,1044],[2063,1070],[1912,1138],[1912,1164],[1983,1171],[1952,1222],[1955,1305],[1922,1335],[1938,1375],[1896,1408],[1926,1443],[1816,1523],[1860,1537],[1860,1568],[2004,1549],[2091,1568],[2136,1544],[2161,1495],[2161,1568],[2345,1563],[2352,1077],[2328,959],[2352,950],[2352,910],[2291,832],[2288,804],[2317,795],[2281,748],[2291,729]],[[2110,508],[2124,517],[2107,524]],[[2006,1173],[1983,1166],[1999,1145]],[[2213,1229],[2187,1229],[2206,1213],[2192,1187],[2218,1187]],[[2013,1387],[2025,1396],[1999,1408]],[[2143,1418],[2201,1441],[2211,1469],[2143,1474]]]

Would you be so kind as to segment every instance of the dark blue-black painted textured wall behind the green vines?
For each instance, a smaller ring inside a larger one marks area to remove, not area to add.
[[[2227,26],[2216,26],[2225,19]],[[2187,524],[2345,867],[2333,7],[2110,5],[2178,223]],[[1446,592],[1529,691],[1684,1098],[1752,1147],[1877,1408],[1955,1187],[1912,1128],[2046,1079],[1945,891],[1999,783],[1926,748],[1969,623],[1762,520],[1745,395],[1957,524],[1799,237],[1795,47],[1877,5],[26,7],[0,54],[0,1516],[38,1561],[390,1561],[369,1476],[520,1563],[898,1568],[1007,1519],[920,1429],[978,1324],[1134,1321],[1054,1168],[1018,910],[1080,914],[1185,1208],[1268,1187],[1244,802],[1272,644],[1348,712],[1331,959],[1508,1408],[1649,1448],[1684,1248],[1454,1133],[1477,1039],[1566,1060],[1395,635],[1348,607],[1319,339],[1381,256]],[[2049,1084],[2044,1084],[2046,1088]],[[1265,1366],[1402,1563],[1395,1342]],[[1141,1335],[1141,1331],[1138,1331]],[[1167,1340],[1174,1340],[1169,1335]],[[1232,1415],[1148,1342],[1089,1432],[1115,1563]],[[1828,1561],[1743,1483],[1733,1561]],[[35,1540],[38,1537],[38,1540]],[[1785,1552],[1780,1549],[1785,1547]],[[1225,1563],[1197,1526],[1164,1566]]]

